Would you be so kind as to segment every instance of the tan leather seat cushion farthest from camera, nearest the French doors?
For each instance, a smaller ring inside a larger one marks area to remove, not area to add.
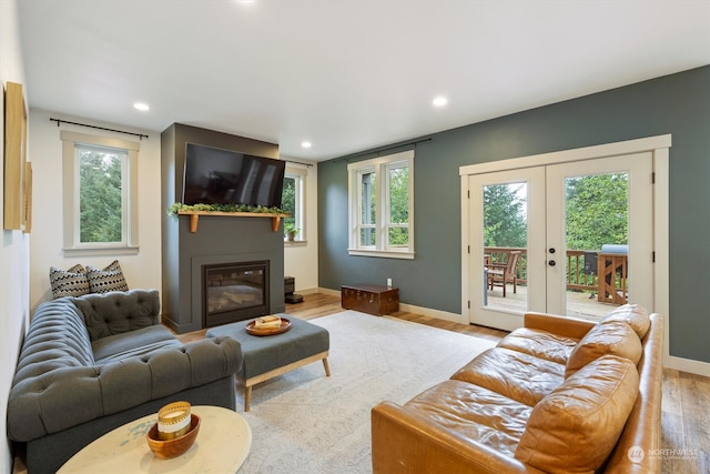
[[[524,352],[558,364],[566,364],[569,354],[579,342],[547,331],[518,327],[498,343],[498,347]]]

